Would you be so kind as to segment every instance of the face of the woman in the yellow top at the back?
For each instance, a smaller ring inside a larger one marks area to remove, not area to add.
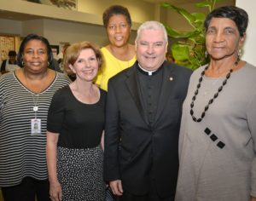
[[[125,15],[114,14],[108,20],[108,40],[113,46],[122,47],[128,43],[131,27],[128,25]]]

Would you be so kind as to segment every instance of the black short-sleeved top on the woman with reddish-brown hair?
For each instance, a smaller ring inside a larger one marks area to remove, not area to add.
[[[69,86],[55,93],[49,106],[47,130],[60,133],[58,146],[90,148],[100,144],[107,95],[102,89],[100,92],[100,100],[95,104],[77,100]]]

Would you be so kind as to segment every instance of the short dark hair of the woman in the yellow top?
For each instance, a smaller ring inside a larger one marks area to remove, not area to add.
[[[103,25],[105,26],[105,28],[108,27],[109,19],[115,14],[124,15],[128,25],[131,27],[131,15],[128,9],[120,5],[113,5],[106,9],[102,15]]]

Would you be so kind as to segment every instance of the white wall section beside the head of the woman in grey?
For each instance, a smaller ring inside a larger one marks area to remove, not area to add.
[[[256,1],[255,0],[236,0],[236,6],[241,9],[245,9],[249,15],[249,25],[247,28],[247,39],[243,46],[242,60],[256,66],[256,55],[255,55],[255,46],[256,46]]]

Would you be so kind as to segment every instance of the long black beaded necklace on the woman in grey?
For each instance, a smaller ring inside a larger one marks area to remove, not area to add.
[[[239,58],[237,58],[236,62],[235,62],[235,66],[238,65],[238,62],[239,62]],[[199,93],[199,89],[201,88],[201,82],[203,80],[203,76],[205,75],[207,69],[208,69],[209,66],[206,66],[204,71],[201,72],[201,77],[199,78],[198,80],[198,84],[196,86],[196,89],[195,89],[195,94],[194,96],[192,97],[192,101],[190,103],[190,115],[192,117],[192,119],[195,121],[195,122],[201,122],[201,120],[206,116],[206,112],[207,110],[209,109],[209,106],[212,104],[212,102],[218,97],[218,94],[222,91],[222,89],[224,88],[224,85],[227,83],[228,79],[230,78],[230,75],[231,75],[231,72],[233,72],[233,68],[230,69],[230,72],[226,75],[226,78],[224,79],[222,85],[218,88],[218,92],[215,93],[212,97],[212,99],[210,99],[208,101],[208,104],[207,106],[205,106],[205,109],[204,109],[204,112],[201,112],[201,118],[195,118],[194,116],[194,111],[193,111],[193,107],[194,107],[194,104],[195,104],[195,99],[196,99],[196,95],[198,95]]]

